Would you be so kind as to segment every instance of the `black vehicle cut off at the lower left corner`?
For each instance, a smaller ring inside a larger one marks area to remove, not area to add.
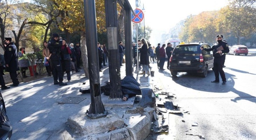
[[[0,140],[9,140],[12,136],[12,126],[6,115],[5,102],[0,92]]]

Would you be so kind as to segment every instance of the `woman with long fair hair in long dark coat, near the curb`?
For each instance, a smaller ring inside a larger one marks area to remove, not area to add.
[[[148,44],[147,41],[142,38],[141,39],[142,47],[140,48],[140,64],[142,65],[142,73],[140,74],[146,74],[150,75],[150,71],[148,68],[149,59],[148,59]]]

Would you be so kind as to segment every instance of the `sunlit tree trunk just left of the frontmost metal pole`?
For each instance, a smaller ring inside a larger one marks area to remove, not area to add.
[[[88,55],[87,55],[87,48],[86,48],[86,34],[85,32],[81,31],[81,51],[82,51],[82,62],[84,66],[84,74],[85,77],[89,79],[89,69],[88,69]]]

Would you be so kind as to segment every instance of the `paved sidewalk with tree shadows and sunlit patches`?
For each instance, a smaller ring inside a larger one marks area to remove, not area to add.
[[[102,70],[100,80],[101,85],[104,85],[109,80],[109,70],[106,66]],[[125,66],[121,67],[121,79],[123,77],[125,77]],[[134,73],[134,77],[142,86],[150,85],[150,76]],[[63,82],[67,82],[66,76]],[[78,132],[71,130],[67,120],[70,116],[84,114],[89,109],[90,94],[79,92],[79,89],[87,87],[89,87],[89,79],[84,77],[83,71],[80,71],[72,73],[71,82],[68,82],[67,86],[53,85],[53,77],[44,77],[1,91],[6,103],[7,115],[13,126],[11,139],[81,139]],[[102,98],[103,103],[104,100],[107,98]],[[66,103],[70,101],[73,103]]]

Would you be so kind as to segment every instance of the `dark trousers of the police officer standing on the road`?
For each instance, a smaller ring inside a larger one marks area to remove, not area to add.
[[[215,80],[219,81],[219,75],[222,78],[222,81],[226,81],[225,73],[222,69],[223,58],[222,57],[214,57],[213,61],[213,71],[215,74]]]

